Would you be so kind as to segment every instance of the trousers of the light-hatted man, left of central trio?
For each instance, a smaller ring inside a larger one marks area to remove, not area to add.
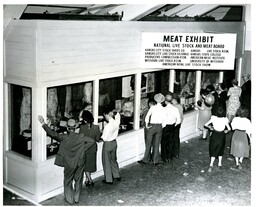
[[[142,161],[148,163],[150,161],[151,145],[153,144],[153,163],[159,163],[159,145],[162,138],[162,124],[152,124],[147,131],[147,141],[144,157]]]

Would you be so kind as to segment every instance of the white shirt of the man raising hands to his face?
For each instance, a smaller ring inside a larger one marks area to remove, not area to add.
[[[115,119],[112,117],[109,118],[109,122],[104,127],[103,134],[101,136],[104,142],[110,142],[117,138],[120,120],[121,117],[119,113],[115,115]]]

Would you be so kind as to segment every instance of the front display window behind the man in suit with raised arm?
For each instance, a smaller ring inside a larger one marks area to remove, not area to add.
[[[47,88],[47,125],[58,133],[66,133],[67,120],[79,124],[83,110],[92,113],[93,82]],[[47,157],[55,155],[59,143],[47,136]]]

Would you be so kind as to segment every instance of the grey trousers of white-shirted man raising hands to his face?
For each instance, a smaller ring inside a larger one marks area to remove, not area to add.
[[[102,165],[104,177],[107,182],[113,182],[113,178],[120,177],[116,151],[116,140],[111,142],[104,142],[102,148]]]

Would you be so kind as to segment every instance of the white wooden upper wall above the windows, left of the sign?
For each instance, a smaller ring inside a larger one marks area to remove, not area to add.
[[[243,40],[243,23],[230,22],[39,21],[38,25],[39,78],[46,85],[141,68],[142,32],[233,32]]]

